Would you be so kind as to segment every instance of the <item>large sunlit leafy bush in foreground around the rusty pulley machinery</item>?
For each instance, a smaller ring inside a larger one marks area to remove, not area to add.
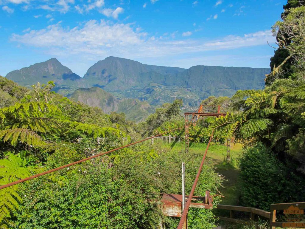
[[[201,155],[135,146],[22,185],[23,203],[15,228],[157,228],[160,193],[181,194],[181,162],[186,163],[186,192]],[[205,164],[195,195],[217,192],[221,177]],[[219,199],[215,198],[217,204]],[[190,228],[212,228],[211,210],[192,209]],[[172,221],[172,227],[178,225]]]

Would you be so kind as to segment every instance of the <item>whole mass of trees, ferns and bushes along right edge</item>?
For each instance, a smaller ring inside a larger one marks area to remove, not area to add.
[[[290,64],[285,65],[288,58],[274,68],[264,90],[238,91],[231,115],[210,125],[244,143],[238,158],[241,201],[265,210],[274,200],[300,202],[305,196],[305,6],[292,3],[273,27]]]

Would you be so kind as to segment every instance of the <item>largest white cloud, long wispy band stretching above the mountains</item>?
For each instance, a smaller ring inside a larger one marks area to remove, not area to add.
[[[187,53],[201,53],[215,50],[238,49],[274,42],[271,31],[258,31],[245,35],[228,35],[220,39],[206,38],[175,39],[175,34],[166,39],[147,36],[145,32],[134,29],[133,24],[113,24],[101,20],[90,20],[78,27],[63,27],[61,23],[40,30],[30,30],[26,34],[13,34],[12,42],[39,48],[44,53],[56,56],[75,55],[94,59],[106,56],[127,58],[157,58]],[[185,32],[189,35],[191,32]]]

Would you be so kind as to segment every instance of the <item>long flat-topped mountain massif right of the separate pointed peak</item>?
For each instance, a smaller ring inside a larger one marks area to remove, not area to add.
[[[262,89],[264,75],[269,72],[267,68],[247,67],[161,67],[110,56],[90,67],[84,80],[86,87],[99,86],[121,97],[144,99],[150,105],[181,98],[189,107],[211,95],[232,96],[237,89]]]

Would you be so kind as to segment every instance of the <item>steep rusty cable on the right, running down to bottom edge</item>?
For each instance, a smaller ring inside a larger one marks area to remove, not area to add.
[[[201,173],[201,169],[202,169],[202,166],[203,166],[203,163],[204,163],[204,160],[206,159],[206,153],[209,149],[209,146],[210,146],[210,143],[211,143],[211,140],[212,140],[212,137],[213,137],[213,133],[214,133],[214,130],[212,131],[212,134],[211,134],[211,137],[210,137],[210,140],[208,142],[208,145],[206,146],[206,151],[203,155],[203,158],[202,158],[202,161],[201,161],[201,164],[200,164],[200,167],[198,169],[198,172],[197,172],[197,175],[196,175],[196,178],[195,178],[195,181],[194,181],[194,184],[192,186],[192,190],[190,192],[190,194],[188,195],[188,200],[186,201],[186,204],[185,204],[185,208],[183,210],[183,213],[182,213],[182,216],[180,218],[180,222],[178,224],[178,227],[177,229],[182,229],[183,227],[183,224],[186,220],[186,217],[187,217],[187,214],[188,214],[188,209],[191,205],[191,202],[192,202],[192,198],[193,198],[193,195],[194,195],[194,191],[195,191],[195,188],[196,188],[196,185],[198,183],[198,180],[199,180],[199,176],[200,176],[200,173]]]

